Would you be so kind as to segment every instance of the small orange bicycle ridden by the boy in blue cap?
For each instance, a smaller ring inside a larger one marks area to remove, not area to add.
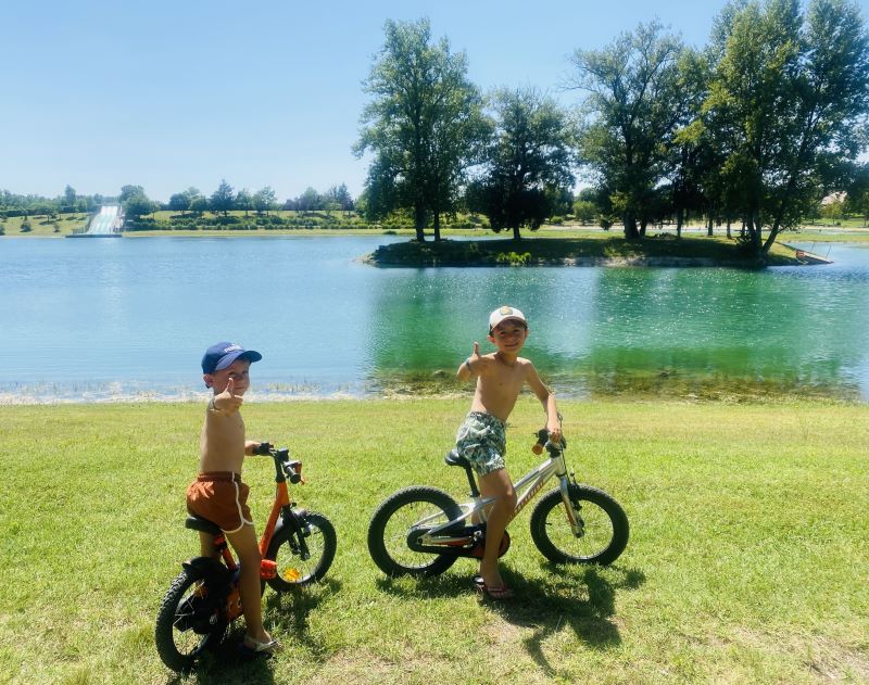
[[[290,461],[289,449],[262,443],[255,454],[275,461],[275,502],[260,553],[262,589],[268,584],[278,593],[319,581],[331,566],[338,546],[335,527],[322,513],[297,508],[287,481],[302,480],[302,462]],[[205,649],[222,642],[226,629],[241,616],[238,592],[240,563],[236,561],[223,531],[198,516],[187,517],[185,527],[214,536],[217,557],[185,561],[169,586],[156,617],[154,638],[160,658],[174,671],[187,671]]]

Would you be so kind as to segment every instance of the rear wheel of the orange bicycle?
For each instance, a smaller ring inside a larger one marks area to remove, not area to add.
[[[222,607],[198,604],[207,597],[207,588],[200,593],[206,587],[203,581],[201,571],[185,568],[160,605],[154,643],[161,660],[173,671],[189,671],[205,649],[221,644],[226,632]]]

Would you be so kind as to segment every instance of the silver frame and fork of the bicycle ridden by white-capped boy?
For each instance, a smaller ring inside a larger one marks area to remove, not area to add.
[[[564,449],[551,443],[546,443],[546,451],[549,452],[550,457],[513,484],[513,489],[520,494],[518,494],[516,498],[516,507],[511,513],[507,524],[509,524],[511,521],[513,521],[513,519],[515,519],[526,507],[526,505],[533,499],[534,495],[537,495],[543,489],[550,479],[555,477],[559,480],[559,490],[562,493],[562,499],[565,504],[567,518],[570,522],[570,529],[574,531],[574,535],[579,536],[582,534],[582,530],[577,521],[574,507],[570,503],[568,491],[570,479],[567,475],[567,465],[565,464],[564,459]],[[483,498],[478,495],[474,496],[470,502],[459,504],[458,506],[463,512],[461,517],[427,531],[420,536],[420,542],[424,545],[456,545],[458,543],[466,544],[473,542],[473,535],[466,534],[464,530],[463,534],[459,535],[451,535],[449,531],[450,529],[455,529],[457,523],[466,524],[468,520],[473,519],[475,516],[479,518],[481,523],[486,522],[488,512],[487,510],[489,505],[492,503],[494,503],[494,497]],[[438,518],[437,513],[426,517],[417,521],[414,528],[423,528],[429,521],[436,518]]]

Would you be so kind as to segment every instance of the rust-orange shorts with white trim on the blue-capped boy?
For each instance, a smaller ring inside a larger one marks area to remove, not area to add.
[[[187,489],[187,510],[216,523],[225,533],[237,533],[242,525],[253,525],[249,492],[239,473],[200,473]]]

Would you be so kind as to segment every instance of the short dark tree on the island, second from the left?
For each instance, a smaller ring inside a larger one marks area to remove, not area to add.
[[[567,116],[536,90],[494,93],[495,128],[484,156],[484,176],[468,192],[468,206],[489,217],[492,230],[532,230],[549,216],[559,193],[574,183],[572,132]],[[568,201],[572,194],[567,191]]]

